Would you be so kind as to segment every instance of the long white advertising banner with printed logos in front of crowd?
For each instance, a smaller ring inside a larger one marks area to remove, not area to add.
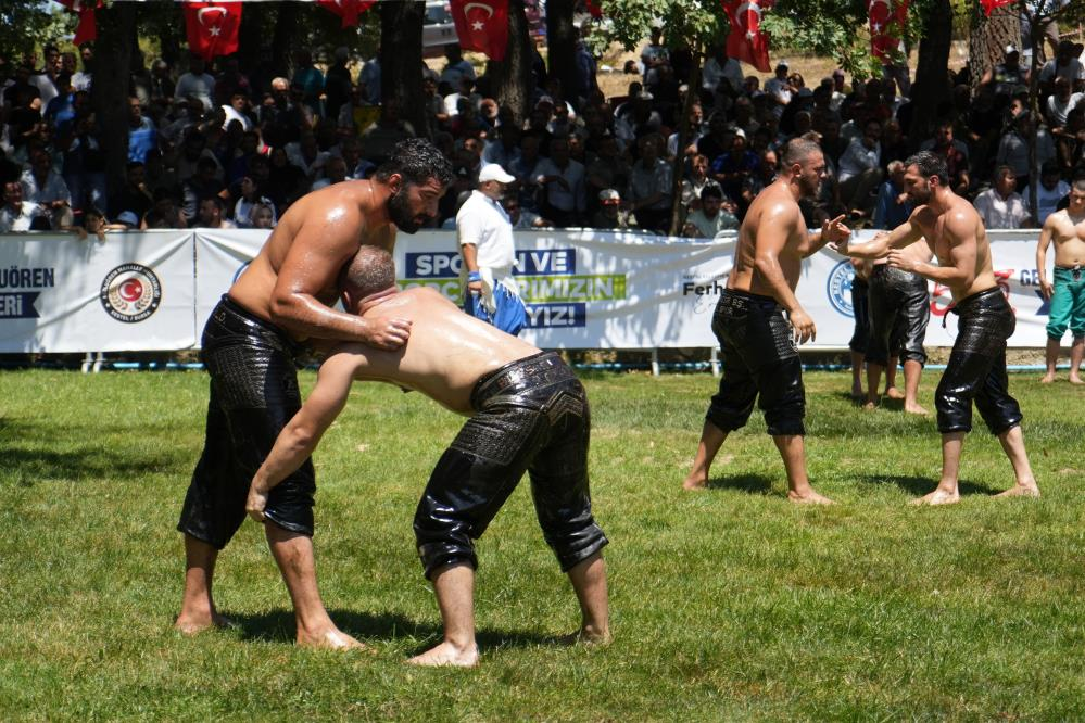
[[[1038,293],[1037,231],[989,232],[995,274],[1017,312],[1012,346],[1044,346],[1048,304]],[[199,344],[212,307],[267,231],[111,233],[104,243],[60,234],[0,237],[0,353],[180,350]],[[860,232],[858,240],[869,238]],[[522,337],[543,348],[648,350],[716,345],[711,315],[734,239],[689,241],[609,231],[517,232],[516,278],[528,304]],[[1054,254],[1051,254],[1054,255]],[[400,234],[400,284],[430,286],[459,302],[454,231]],[[798,299],[818,328],[805,347],[851,338],[847,259],[806,259]],[[948,290],[931,284],[929,346],[957,332]],[[943,320],[946,320],[943,327]]]

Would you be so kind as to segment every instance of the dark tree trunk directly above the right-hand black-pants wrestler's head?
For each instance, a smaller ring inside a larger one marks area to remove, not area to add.
[[[934,134],[939,118],[938,106],[949,101],[949,47],[952,41],[952,8],[949,0],[933,0],[923,17],[923,39],[919,43],[916,83],[912,84],[911,128],[908,138],[912,147]]]

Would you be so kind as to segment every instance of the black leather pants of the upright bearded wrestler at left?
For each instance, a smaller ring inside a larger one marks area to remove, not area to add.
[[[300,350],[226,296],[207,319],[202,346],[211,373],[206,437],[177,529],[222,549],[244,521],[253,474],[301,408]],[[265,515],[280,528],[312,535],[315,491],[313,462],[306,460],[272,490]]]

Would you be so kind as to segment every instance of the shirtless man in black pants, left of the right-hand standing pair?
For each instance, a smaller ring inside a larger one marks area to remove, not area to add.
[[[787,471],[787,498],[831,503],[815,492],[806,475],[806,394],[796,341],[812,340],[817,330],[795,297],[803,259],[851,233],[841,223],[843,216],[825,221],[820,232],[807,232],[798,200],[817,195],[824,178],[825,161],[818,144],[792,140],[784,149],[779,177],[746,212],[727,290],[712,316],[712,332],[723,352],[723,378],[708,406],[693,469],[682,485],[685,490],[707,486],[720,445],[746,423],[760,395],[768,432]]]

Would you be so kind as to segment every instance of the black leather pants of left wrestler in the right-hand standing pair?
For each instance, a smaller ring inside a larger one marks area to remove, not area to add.
[[[712,315],[712,332],[722,351],[723,377],[708,405],[708,421],[726,432],[739,429],[756,399],[769,434],[805,434],[803,364],[775,300],[724,291]]]

